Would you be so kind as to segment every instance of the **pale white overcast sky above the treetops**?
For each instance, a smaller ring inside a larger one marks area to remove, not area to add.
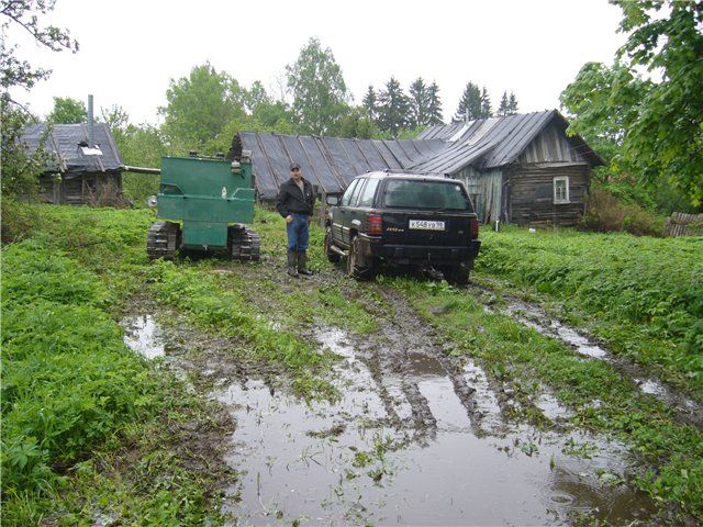
[[[70,31],[77,54],[45,52],[18,31],[5,37],[53,70],[32,92],[13,92],[40,115],[53,97],[92,93],[98,115],[119,104],[133,123],[157,123],[169,80],[205,61],[280,97],[286,65],[315,36],[357,104],[369,85],[394,76],[408,90],[423,77],[439,86],[447,121],[468,81],[486,86],[493,109],[505,90],[520,112],[559,108],[584,63],[612,64],[620,19],[606,0],[57,0],[46,20]]]

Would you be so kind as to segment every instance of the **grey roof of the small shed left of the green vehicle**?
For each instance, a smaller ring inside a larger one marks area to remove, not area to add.
[[[31,124],[22,133],[22,141],[27,145],[30,153],[36,150],[40,143],[45,141],[44,148],[55,154],[55,164],[47,167],[47,170],[75,173],[124,169],[122,156],[105,123],[93,125],[94,143],[102,153],[98,156],[87,155],[90,149],[79,145],[88,144],[87,123],[53,124],[48,135],[47,126],[47,123]]]

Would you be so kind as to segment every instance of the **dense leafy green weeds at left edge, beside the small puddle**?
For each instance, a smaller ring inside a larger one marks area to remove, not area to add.
[[[47,492],[57,468],[147,410],[156,385],[97,276],[32,240],[2,256],[2,485]]]

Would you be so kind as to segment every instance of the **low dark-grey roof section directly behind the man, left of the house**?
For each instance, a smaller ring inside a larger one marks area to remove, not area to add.
[[[238,143],[237,143],[238,141]],[[272,200],[297,161],[303,177],[327,193],[338,193],[360,173],[408,169],[446,148],[443,139],[376,141],[242,132],[234,149],[252,150],[256,187]]]

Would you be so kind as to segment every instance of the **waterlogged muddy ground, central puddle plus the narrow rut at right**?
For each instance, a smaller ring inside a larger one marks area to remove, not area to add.
[[[282,261],[267,258],[256,267],[223,265],[217,272],[249,273],[254,288],[267,279],[283,291],[313,292],[338,283],[342,271],[291,279]],[[242,341],[197,329],[153,301],[135,302],[123,321],[133,349],[163,361],[226,411],[223,426],[201,441],[234,471],[223,481],[231,525],[656,522],[654,504],[626,483],[638,469],[624,447],[574,429],[569,408],[546,388],[534,404],[553,426],[515,424],[506,417],[515,404],[512,388],[469,358],[453,356],[402,293],[381,284],[344,287],[368,288],[382,299],[383,305],[369,306],[378,332],[360,335],[328,323],[298,328],[320,350],[339,356],[328,379],[341,394],[336,401],[305,403],[280,368],[242,359]],[[495,292],[470,285],[465,294],[498,309]],[[682,421],[701,424],[700,404],[537,306],[504,300],[502,311],[590,360],[613,361]],[[275,313],[265,295],[260,307]]]

